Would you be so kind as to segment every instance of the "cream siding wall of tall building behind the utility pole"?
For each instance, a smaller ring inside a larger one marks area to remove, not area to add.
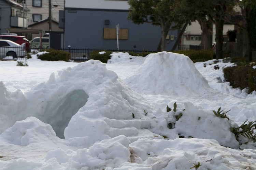
[[[58,5],[58,7],[53,7],[52,9],[52,18],[55,21],[59,20],[59,10],[64,9],[64,0],[52,0],[52,6]],[[29,8],[27,16],[32,18],[33,14],[41,14],[42,20],[49,17],[49,0],[42,0],[42,7],[32,6],[32,0],[26,0],[26,7]],[[33,22],[35,23],[35,22]]]

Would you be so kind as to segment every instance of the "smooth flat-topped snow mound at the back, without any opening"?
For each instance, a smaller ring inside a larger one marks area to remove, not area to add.
[[[148,55],[140,68],[124,82],[145,95],[181,97],[212,90],[189,57],[171,52]]]

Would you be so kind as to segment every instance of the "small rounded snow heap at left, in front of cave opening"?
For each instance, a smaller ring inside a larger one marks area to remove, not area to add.
[[[17,121],[11,128],[4,131],[0,135],[0,141],[27,146],[34,142],[48,142],[54,137],[56,134],[51,125],[35,117],[28,117],[26,120]]]

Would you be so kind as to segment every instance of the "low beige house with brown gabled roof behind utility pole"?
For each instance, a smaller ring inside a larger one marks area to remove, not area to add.
[[[42,30],[46,33],[49,30],[49,18],[30,24],[28,27],[35,30]],[[52,20],[52,31],[63,32],[63,29],[59,28],[59,22]],[[38,37],[38,34],[32,34],[31,39],[34,37]]]

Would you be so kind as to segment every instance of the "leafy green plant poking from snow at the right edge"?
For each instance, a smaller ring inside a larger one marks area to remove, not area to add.
[[[230,131],[236,135],[236,138],[238,140],[238,135],[242,135],[245,138],[251,139],[253,142],[256,142],[256,134],[254,132],[254,130],[256,129],[256,121],[251,121],[248,122],[248,124],[245,124],[248,121],[248,119],[246,119],[243,124],[241,124],[241,126],[239,126],[238,128],[231,128]],[[242,131],[240,131],[240,129],[242,129]],[[248,142],[245,142],[245,144],[247,144]]]

